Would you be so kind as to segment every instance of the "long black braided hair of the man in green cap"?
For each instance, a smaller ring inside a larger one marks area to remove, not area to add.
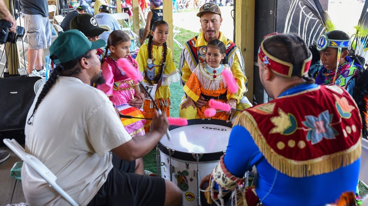
[[[79,60],[82,58],[91,58],[91,50],[88,50],[86,53],[82,54],[78,58],[75,58],[73,60],[70,60],[68,62],[60,63],[56,66],[55,69],[52,70],[52,73],[50,74],[49,79],[46,81],[45,85],[42,88],[42,91],[40,92],[37,102],[35,104],[35,108],[33,108],[33,113],[31,117],[28,118],[27,124],[32,125],[31,118],[35,116],[36,110],[38,106],[40,105],[43,98],[45,98],[47,92],[51,89],[51,87],[55,84],[57,80],[57,76],[72,76],[73,74],[78,74],[81,72],[81,68],[79,65]],[[57,59],[56,56],[50,55],[50,59],[54,60]]]

